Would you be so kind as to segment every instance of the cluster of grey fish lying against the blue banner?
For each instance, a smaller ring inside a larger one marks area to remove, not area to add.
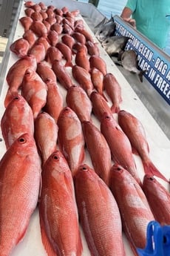
[[[137,53],[135,50],[126,50],[126,44],[131,37],[129,36],[115,36],[116,24],[113,17],[106,21],[103,19],[95,27],[95,36],[101,42],[104,50],[109,54],[109,56],[118,56],[118,61],[115,61],[116,65],[121,65],[126,70],[132,73],[137,73],[140,82],[143,82],[143,73],[145,70],[140,70],[138,68]]]

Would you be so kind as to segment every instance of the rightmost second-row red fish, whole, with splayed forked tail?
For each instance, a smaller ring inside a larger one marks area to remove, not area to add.
[[[150,177],[155,175],[169,182],[169,180],[157,170],[149,157],[149,145],[146,140],[146,132],[140,120],[128,111],[119,111],[118,122],[126,136],[129,137],[133,151],[140,155],[145,173]]]

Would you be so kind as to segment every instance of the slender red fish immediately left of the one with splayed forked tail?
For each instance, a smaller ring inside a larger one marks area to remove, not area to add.
[[[135,180],[137,180],[137,183],[140,184],[140,177],[137,174],[131,143],[112,115],[108,113],[103,114],[101,132],[109,145],[114,162],[126,168]]]

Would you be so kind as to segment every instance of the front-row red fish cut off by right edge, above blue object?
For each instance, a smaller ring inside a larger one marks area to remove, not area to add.
[[[143,178],[143,191],[152,209],[155,220],[160,225],[170,225],[170,194],[166,188],[154,177],[145,175]]]

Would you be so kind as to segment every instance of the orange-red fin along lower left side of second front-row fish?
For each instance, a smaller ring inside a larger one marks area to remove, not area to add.
[[[41,240],[42,240],[42,243],[44,245],[44,249],[47,252],[47,255],[48,256],[56,256],[56,253],[52,249],[52,246],[50,245],[49,239],[48,239],[47,234],[45,232],[44,223],[43,223],[43,220],[42,220],[41,216],[40,216],[40,227],[41,227]]]

